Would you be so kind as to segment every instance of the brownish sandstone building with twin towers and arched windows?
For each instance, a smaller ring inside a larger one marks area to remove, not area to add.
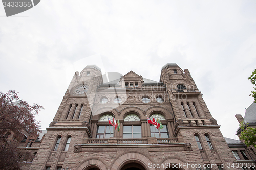
[[[113,118],[120,131],[109,126]],[[88,65],[75,72],[30,169],[241,169],[231,166],[237,161],[219,128],[175,63],[162,67],[159,82]]]

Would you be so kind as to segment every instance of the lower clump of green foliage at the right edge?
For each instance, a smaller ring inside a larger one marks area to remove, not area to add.
[[[244,122],[240,123],[241,132],[240,140],[244,140],[244,144],[256,147],[256,128],[248,127]]]

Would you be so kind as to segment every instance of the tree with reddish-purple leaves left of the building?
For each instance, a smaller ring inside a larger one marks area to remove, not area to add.
[[[18,163],[17,144],[24,138],[22,132],[37,135],[40,131],[35,115],[40,109],[38,104],[30,106],[20,100],[17,92],[9,90],[6,94],[0,92],[0,168],[20,169]]]

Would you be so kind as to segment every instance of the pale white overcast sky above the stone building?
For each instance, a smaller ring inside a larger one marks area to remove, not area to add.
[[[11,17],[0,5],[0,91],[44,106],[42,129],[86,65],[159,81],[166,63],[190,71],[223,135],[235,138],[234,115],[253,102],[256,1],[41,0]]]

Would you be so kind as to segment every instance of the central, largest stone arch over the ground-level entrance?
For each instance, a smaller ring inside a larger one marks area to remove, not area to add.
[[[154,164],[154,162],[149,157],[139,152],[126,152],[118,156],[118,158],[112,162],[110,170],[120,170],[124,165],[131,162],[139,163],[146,170],[155,170],[153,167],[148,167],[148,164]]]

